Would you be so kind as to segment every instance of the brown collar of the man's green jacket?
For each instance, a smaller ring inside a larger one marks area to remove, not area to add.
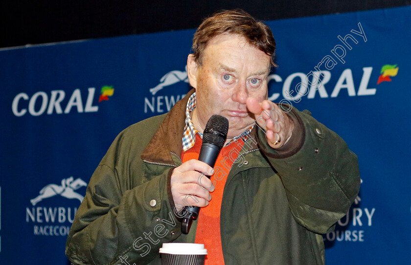
[[[153,163],[164,163],[175,165],[171,153],[181,157],[183,149],[183,133],[185,126],[185,109],[188,98],[193,95],[195,89],[190,90],[187,95],[178,101],[166,114],[161,122],[157,132],[151,138],[144,151],[141,153],[141,159]],[[250,133],[251,138],[255,138],[256,127]],[[249,142],[249,145],[244,145],[243,150],[251,150],[257,147],[255,141]]]

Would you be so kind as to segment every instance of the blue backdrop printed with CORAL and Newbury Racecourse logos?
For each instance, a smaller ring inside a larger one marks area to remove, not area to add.
[[[270,98],[309,109],[359,158],[360,195],[324,235],[326,263],[410,264],[411,7],[268,24]],[[188,92],[194,31],[0,50],[0,264],[67,263],[75,211],[115,136]]]

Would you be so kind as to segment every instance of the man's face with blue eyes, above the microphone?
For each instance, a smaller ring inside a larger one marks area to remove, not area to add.
[[[200,132],[213,114],[228,119],[228,139],[253,124],[254,116],[247,110],[246,100],[267,99],[269,55],[251,47],[244,37],[222,34],[207,45],[202,66],[196,65],[192,55],[187,65],[190,84],[196,88],[193,122]]]

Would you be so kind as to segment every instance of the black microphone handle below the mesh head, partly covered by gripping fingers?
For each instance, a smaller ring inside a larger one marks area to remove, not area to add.
[[[206,163],[210,167],[214,167],[215,161],[217,160],[218,154],[220,153],[220,148],[216,145],[209,143],[203,143],[200,149],[200,155],[198,160]],[[206,176],[210,178],[210,176]],[[200,207],[198,206],[185,206],[183,209],[185,213],[183,221],[181,224],[181,232],[185,235],[188,234],[191,228],[191,224],[194,220],[197,220],[198,214],[200,213]]]

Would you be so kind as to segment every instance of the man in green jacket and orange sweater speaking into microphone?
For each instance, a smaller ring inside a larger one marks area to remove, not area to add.
[[[70,230],[72,263],[160,264],[163,242],[196,242],[206,264],[324,264],[321,234],[358,193],[357,158],[309,112],[267,100],[274,50],[244,11],[200,25],[187,59],[195,90],[117,136]],[[214,171],[196,160],[213,114],[229,121]],[[188,235],[183,206],[202,207]]]

